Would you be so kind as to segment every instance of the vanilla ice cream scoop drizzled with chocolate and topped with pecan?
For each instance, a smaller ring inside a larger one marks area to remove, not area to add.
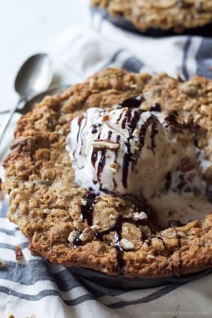
[[[82,187],[146,198],[189,151],[149,111],[128,107],[74,118],[66,149]]]

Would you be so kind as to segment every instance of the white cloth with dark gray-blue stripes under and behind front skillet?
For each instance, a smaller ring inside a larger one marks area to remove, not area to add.
[[[66,30],[46,45],[54,62],[83,80],[107,66],[127,71],[166,72],[189,79],[212,78],[212,39],[176,36],[148,38],[110,25],[98,15],[92,28]],[[68,39],[68,41],[67,41]],[[56,45],[55,45],[56,43]],[[0,118],[1,120],[1,118]],[[12,128],[11,128],[12,129]],[[11,134],[11,131],[8,132]],[[9,147],[9,145],[7,145]],[[31,256],[27,239],[6,218],[0,204],[0,317],[16,318],[171,318],[211,317],[212,274],[187,284],[143,290],[118,290],[74,276],[68,268]],[[16,261],[15,245],[24,259]]]

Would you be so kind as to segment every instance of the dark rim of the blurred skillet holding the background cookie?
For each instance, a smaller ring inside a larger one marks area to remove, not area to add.
[[[128,20],[124,18],[123,15],[119,15],[116,17],[112,17],[109,15],[109,13],[102,8],[99,7],[92,7],[91,8],[92,13],[99,13],[103,19],[106,19],[110,21],[112,24],[115,24],[116,26],[131,31],[138,34],[143,34],[146,36],[152,36],[152,37],[163,37],[163,36],[173,36],[173,35],[179,35],[179,33],[176,33],[173,31],[173,29],[170,30],[161,30],[161,29],[153,29],[149,28],[146,32],[141,32]],[[198,28],[191,28],[186,29],[184,32],[180,33],[180,35],[199,35],[199,36],[205,36],[205,37],[212,37],[212,23],[209,23],[205,26],[201,26]]]

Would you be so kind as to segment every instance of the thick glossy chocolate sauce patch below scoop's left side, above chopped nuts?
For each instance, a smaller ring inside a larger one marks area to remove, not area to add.
[[[87,191],[84,200],[86,200],[87,204],[84,206],[81,206],[81,215],[80,219],[82,222],[85,222],[87,220],[88,225],[91,226],[93,222],[93,211],[94,211],[94,206],[96,204],[96,198],[98,196],[92,192],[92,191]]]

